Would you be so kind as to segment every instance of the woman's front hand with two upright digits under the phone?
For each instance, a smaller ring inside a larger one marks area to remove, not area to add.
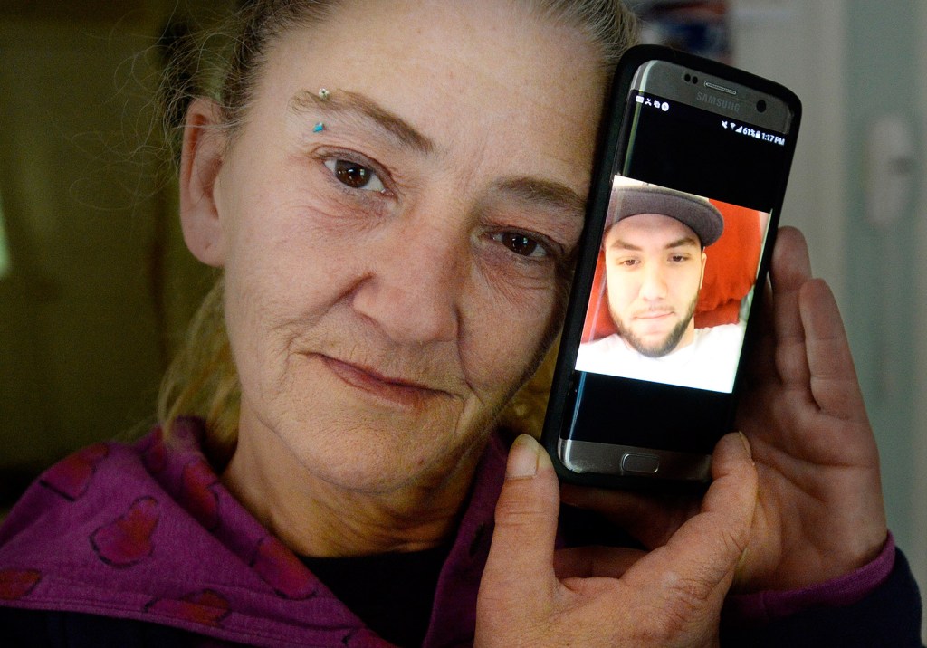
[[[717,645],[721,604],[753,523],[756,470],[741,435],[717,445],[700,511],[650,553],[554,552],[551,459],[518,438],[476,604],[476,645]]]

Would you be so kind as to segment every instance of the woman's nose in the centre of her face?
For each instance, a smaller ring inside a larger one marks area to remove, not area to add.
[[[387,226],[354,295],[355,310],[396,342],[457,336],[467,276],[466,232],[440,218],[405,218]]]

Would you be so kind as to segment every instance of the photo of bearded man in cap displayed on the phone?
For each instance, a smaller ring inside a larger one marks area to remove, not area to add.
[[[768,212],[615,176],[576,370],[730,393]]]

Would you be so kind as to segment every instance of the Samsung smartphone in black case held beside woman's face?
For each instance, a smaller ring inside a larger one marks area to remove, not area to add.
[[[654,45],[622,57],[544,423],[562,479],[710,480],[800,118],[794,93],[743,70]]]

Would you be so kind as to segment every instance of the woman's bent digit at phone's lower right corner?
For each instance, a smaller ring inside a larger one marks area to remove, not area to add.
[[[757,479],[743,435],[729,434],[718,442],[712,474],[702,511],[625,575],[641,591],[670,592],[667,604],[723,598],[749,540]]]

